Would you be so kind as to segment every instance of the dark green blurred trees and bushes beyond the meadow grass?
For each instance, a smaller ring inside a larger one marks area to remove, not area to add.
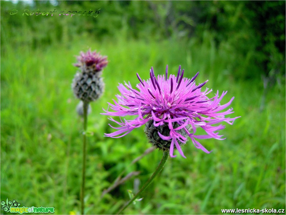
[[[19,12],[10,15],[14,8]],[[24,9],[57,13],[27,16]],[[59,16],[60,11],[85,10],[100,13],[96,18]],[[209,32],[216,46],[228,43],[230,51],[252,62],[244,71],[234,70],[235,77],[285,75],[285,1],[1,1],[1,25],[11,30],[2,31],[1,44],[9,38],[14,45],[34,48],[66,41],[72,45],[83,34],[96,40],[121,35],[147,41],[196,37],[200,42]]]

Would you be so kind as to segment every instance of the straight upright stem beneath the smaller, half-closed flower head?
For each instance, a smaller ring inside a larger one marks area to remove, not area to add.
[[[88,102],[83,102],[83,161],[82,161],[82,187],[81,187],[81,214],[84,214],[84,190],[85,190],[85,160],[86,160],[86,129],[87,129]]]

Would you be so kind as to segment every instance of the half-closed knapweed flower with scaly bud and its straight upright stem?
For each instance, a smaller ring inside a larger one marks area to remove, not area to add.
[[[72,90],[80,103],[76,107],[77,113],[83,117],[83,151],[82,151],[82,183],[80,191],[81,214],[84,214],[85,197],[85,166],[86,166],[86,136],[87,136],[87,115],[91,112],[89,102],[96,101],[104,91],[102,70],[108,64],[107,57],[101,56],[96,51],[81,52],[77,56],[77,63],[74,66],[79,68],[72,80]]]

